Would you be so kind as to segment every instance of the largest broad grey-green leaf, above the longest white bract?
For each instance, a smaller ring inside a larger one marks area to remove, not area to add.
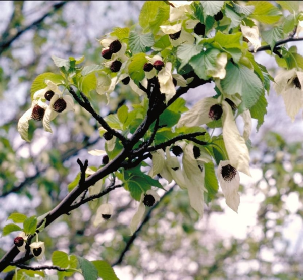
[[[264,86],[254,71],[231,62],[227,63],[226,77],[221,80],[221,86],[227,94],[239,93],[242,96],[243,109],[254,106],[264,92]]]

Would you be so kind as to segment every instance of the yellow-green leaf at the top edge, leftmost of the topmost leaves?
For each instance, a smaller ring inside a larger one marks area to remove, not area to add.
[[[159,7],[166,5],[167,4],[165,4],[164,1],[145,1],[139,15],[140,26],[143,29],[148,27],[149,23],[153,22],[157,17]]]

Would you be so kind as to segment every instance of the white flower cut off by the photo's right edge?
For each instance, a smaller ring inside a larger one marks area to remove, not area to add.
[[[294,121],[303,107],[303,72],[282,70],[275,78],[274,89],[284,100],[286,113]]]

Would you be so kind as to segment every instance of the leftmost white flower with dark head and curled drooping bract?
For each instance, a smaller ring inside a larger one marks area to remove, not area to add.
[[[43,103],[40,100],[33,100],[31,104],[31,108],[28,109],[22,117],[18,121],[17,129],[21,136],[21,138],[25,141],[29,142],[28,139],[28,121],[34,120],[36,122],[39,122],[41,120],[44,120],[45,118],[45,111],[48,108],[48,105],[46,103]],[[47,130],[47,124],[43,121],[43,127],[45,130]]]

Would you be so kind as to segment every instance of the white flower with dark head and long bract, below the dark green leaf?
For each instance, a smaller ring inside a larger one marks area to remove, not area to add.
[[[137,230],[139,223],[141,222],[146,207],[151,207],[155,205],[160,200],[160,196],[153,190],[148,190],[146,193],[141,194],[139,206],[137,212],[134,214],[130,222],[130,234],[133,235]]]

